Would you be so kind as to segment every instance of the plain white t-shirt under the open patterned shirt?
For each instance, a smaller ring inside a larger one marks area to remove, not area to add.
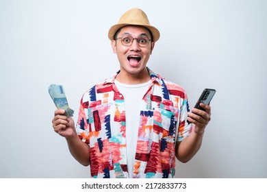
[[[147,92],[151,80],[143,84],[123,84],[115,80],[118,91],[125,99],[126,118],[126,152],[129,178],[133,178],[133,164],[136,157],[138,127],[140,120],[140,104]]]

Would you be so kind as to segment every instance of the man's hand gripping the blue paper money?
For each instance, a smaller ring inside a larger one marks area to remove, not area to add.
[[[73,118],[64,115],[65,110],[55,110],[55,117],[52,120],[54,131],[65,138],[76,134]]]

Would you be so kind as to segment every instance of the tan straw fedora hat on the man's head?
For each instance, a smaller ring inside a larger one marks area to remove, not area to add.
[[[125,27],[127,25],[140,25],[143,27],[147,27],[153,35],[153,41],[156,42],[160,38],[160,32],[157,28],[153,27],[149,23],[149,19],[147,18],[147,14],[145,14],[142,10],[138,8],[133,8],[128,10],[120,17],[118,24],[113,25],[108,32],[108,38],[110,40],[114,40],[114,35],[121,27]]]

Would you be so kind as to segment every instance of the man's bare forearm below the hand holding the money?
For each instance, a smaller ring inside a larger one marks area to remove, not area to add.
[[[66,138],[66,141],[72,156],[81,163],[81,165],[90,165],[90,147],[81,141],[77,134]]]

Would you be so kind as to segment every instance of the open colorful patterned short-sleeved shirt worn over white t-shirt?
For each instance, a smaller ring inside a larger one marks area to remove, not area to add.
[[[175,144],[190,134],[188,99],[181,86],[147,68],[151,84],[142,98],[133,178],[173,178]],[[81,98],[77,134],[90,146],[92,178],[128,178],[125,101],[116,75]]]

